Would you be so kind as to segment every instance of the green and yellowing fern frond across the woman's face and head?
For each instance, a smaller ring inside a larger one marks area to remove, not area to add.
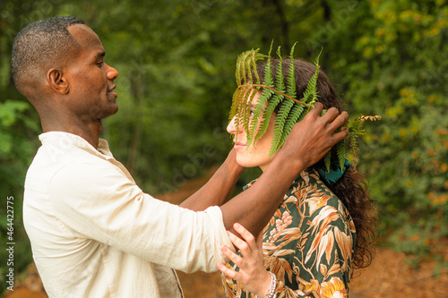
[[[272,42],[273,43],[273,42]],[[288,74],[283,77],[283,57],[280,53],[280,47],[277,48],[276,55],[279,59],[279,64],[272,73],[271,69],[271,52],[272,43],[268,55],[259,53],[259,48],[243,52],[237,57],[237,89],[233,94],[232,106],[230,108],[229,121],[235,117],[235,125],[238,127],[242,125],[246,135],[246,146],[249,147],[256,140],[259,140],[264,132],[266,132],[272,113],[277,106],[280,106],[279,111],[275,117],[274,132],[271,142],[271,149],[269,156],[274,154],[291,132],[295,123],[300,122],[311,108],[314,108],[314,103],[318,100],[317,92],[317,78],[319,76],[319,56],[314,61],[315,72],[311,80],[308,81],[303,97],[297,99],[296,94],[296,78],[295,78],[295,64],[294,64],[294,48],[297,43],[291,48],[289,53],[290,63],[288,67]],[[267,59],[267,61],[266,61]],[[261,81],[256,71],[256,65],[260,62],[266,61],[264,67],[264,80]],[[274,80],[275,78],[275,80]],[[275,83],[274,83],[275,81]],[[285,86],[285,81],[287,82]],[[251,105],[254,96],[257,92],[260,97],[255,104],[254,113],[251,115]],[[281,105],[280,105],[281,104]],[[326,110],[323,110],[323,114]],[[263,119],[260,123],[260,120]],[[349,145],[351,147],[352,156],[354,159],[354,166],[358,162],[358,134],[363,134],[364,130],[362,124],[365,120],[378,120],[381,116],[360,116],[352,119],[348,124],[344,125],[349,128]],[[336,145],[337,159],[340,168],[343,168],[346,152],[346,140],[341,140]],[[332,160],[332,150],[330,150],[324,158],[327,170],[330,169]]]

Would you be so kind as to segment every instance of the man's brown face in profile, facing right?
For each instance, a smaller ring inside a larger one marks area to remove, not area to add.
[[[118,72],[104,63],[104,47],[93,30],[84,24],[68,28],[81,46],[78,52],[68,55],[64,73],[69,83],[68,103],[82,121],[99,120],[116,114],[116,85]]]

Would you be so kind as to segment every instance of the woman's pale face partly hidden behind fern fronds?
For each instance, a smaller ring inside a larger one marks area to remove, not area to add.
[[[252,100],[250,121],[253,121],[255,105],[260,95],[261,93],[257,92],[254,96],[254,99]],[[264,171],[271,164],[272,159],[277,154],[274,153],[271,155],[271,157],[269,157],[269,150],[271,149],[271,141],[274,131],[274,120],[275,113],[272,113],[269,126],[266,132],[264,132],[263,137],[261,137],[259,140],[256,140],[255,143],[252,143],[249,147],[247,147],[246,145],[247,133],[245,132],[243,125],[240,124],[237,127],[235,125],[235,117],[230,121],[230,123],[228,123],[228,133],[233,134],[233,139],[237,140],[234,148],[237,150],[237,163],[239,166],[260,166],[260,168]],[[262,123],[262,121],[263,118],[262,116],[260,116],[256,132],[258,132],[260,123]]]

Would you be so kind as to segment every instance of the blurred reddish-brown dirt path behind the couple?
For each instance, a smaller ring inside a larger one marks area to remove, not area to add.
[[[159,196],[159,199],[179,204],[207,182],[214,170],[185,183],[176,192]],[[437,244],[436,252],[445,256],[444,260],[448,262],[448,239]],[[352,279],[350,298],[448,298],[448,269],[442,269],[439,275],[435,275],[436,265],[435,260],[427,260],[420,268],[413,269],[403,253],[380,248],[371,266]],[[177,273],[185,298],[224,297],[218,272]],[[16,282],[15,290],[4,295],[4,298],[45,297],[47,295],[34,264],[22,275],[22,280]]]

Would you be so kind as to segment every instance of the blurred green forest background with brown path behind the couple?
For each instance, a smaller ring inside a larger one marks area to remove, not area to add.
[[[119,72],[119,112],[104,122],[102,137],[143,191],[175,203],[231,148],[225,128],[237,55],[267,53],[272,39],[285,54],[297,41],[296,56],[310,61],[323,49],[320,64],[349,114],[383,116],[366,123],[359,139],[358,170],[382,224],[376,262],[353,280],[352,296],[448,296],[445,0],[0,1],[0,294],[13,294],[5,291],[8,196],[15,286],[34,287],[15,297],[42,293],[21,208],[41,128],[9,64],[15,35],[56,15],[86,21]],[[259,174],[247,170],[235,192]],[[221,297],[217,278],[181,274],[185,296]]]

